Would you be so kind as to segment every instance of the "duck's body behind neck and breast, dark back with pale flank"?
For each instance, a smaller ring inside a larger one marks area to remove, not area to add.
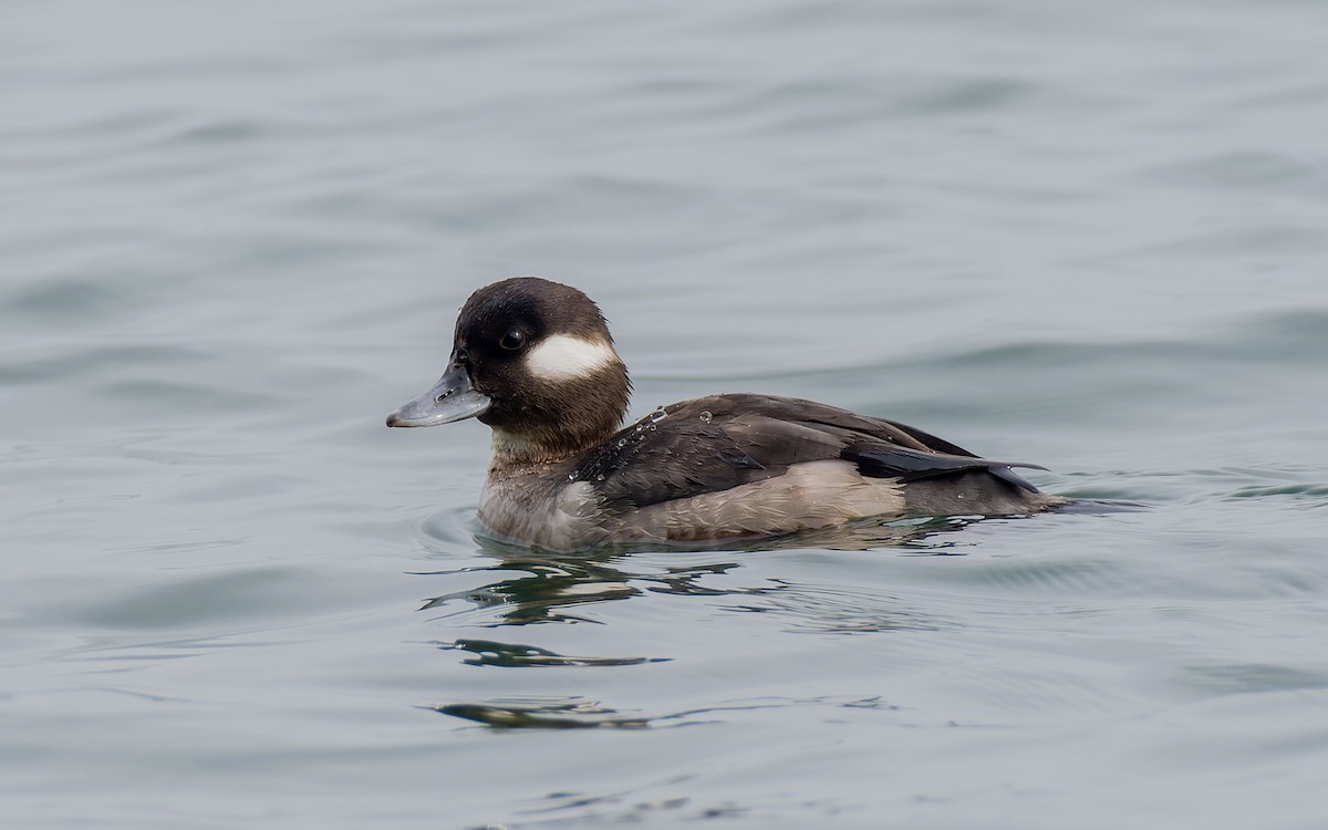
[[[594,494],[608,540],[697,540],[1058,501],[1009,467],[894,421],[718,394],[656,410],[582,458],[570,479]]]

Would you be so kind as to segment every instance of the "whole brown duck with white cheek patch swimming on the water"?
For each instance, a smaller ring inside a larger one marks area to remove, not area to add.
[[[493,429],[479,521],[554,550],[769,537],[854,519],[1011,515],[1068,499],[895,421],[814,401],[712,394],[619,430],[627,367],[599,307],[533,276],[475,291],[452,359],[388,426]]]

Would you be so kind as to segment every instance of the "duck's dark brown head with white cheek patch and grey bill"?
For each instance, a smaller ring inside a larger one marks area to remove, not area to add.
[[[388,426],[479,418],[498,456],[554,461],[611,436],[629,393],[599,307],[570,286],[518,276],[470,295],[446,372]]]

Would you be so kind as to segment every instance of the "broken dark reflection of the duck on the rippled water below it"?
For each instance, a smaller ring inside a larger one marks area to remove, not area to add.
[[[491,564],[422,574],[448,579],[477,575],[497,579],[428,600],[422,610],[441,612],[437,618],[466,627],[506,628],[535,623],[600,623],[592,606],[633,596],[676,595],[729,598],[713,610],[728,612],[778,614],[788,618],[786,631],[818,633],[867,633],[899,628],[934,628],[927,615],[904,607],[898,598],[872,594],[857,586],[803,584],[776,576],[742,579],[750,554],[781,548],[903,548],[936,555],[955,552],[954,543],[935,537],[968,523],[963,519],[920,522],[907,526],[837,529],[830,533],[799,534],[784,539],[764,539],[728,550],[668,548],[659,546],[614,548],[594,552],[554,554],[529,547],[477,538],[479,552]],[[753,568],[754,571],[754,568]],[[527,643],[490,637],[436,641],[440,649],[462,652],[462,663],[494,668],[607,668],[664,663],[671,656],[564,655]],[[845,705],[843,701],[726,701],[720,709],[746,709],[752,705]],[[582,699],[493,699],[479,703],[449,703],[429,706],[438,712],[497,728],[568,729],[588,726],[647,726],[689,722],[681,713],[663,712],[643,717],[622,713]]]

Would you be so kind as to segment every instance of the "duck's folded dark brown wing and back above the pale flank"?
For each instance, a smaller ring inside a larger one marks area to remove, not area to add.
[[[594,482],[606,503],[620,507],[728,490],[826,459],[904,482],[977,470],[1037,493],[1011,470],[1036,465],[979,458],[919,429],[815,401],[718,394],[661,412],[614,436],[576,478]]]

